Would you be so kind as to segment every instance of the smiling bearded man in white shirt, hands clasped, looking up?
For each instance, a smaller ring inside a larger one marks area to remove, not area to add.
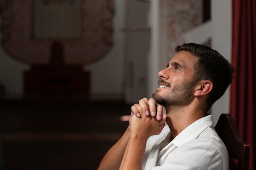
[[[207,111],[232,82],[234,68],[207,46],[183,44],[175,51],[158,73],[153,98],[132,106],[126,132],[99,170],[229,169],[227,149]]]

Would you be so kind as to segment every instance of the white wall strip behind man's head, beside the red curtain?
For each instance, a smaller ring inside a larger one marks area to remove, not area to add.
[[[231,61],[231,0],[211,0],[212,48]],[[229,113],[229,89],[211,108],[216,124],[221,113]]]

